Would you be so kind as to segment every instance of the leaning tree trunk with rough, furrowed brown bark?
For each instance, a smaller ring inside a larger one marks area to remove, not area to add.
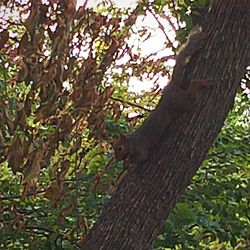
[[[90,232],[84,249],[150,249],[164,219],[218,135],[250,64],[250,1],[215,1],[204,50],[190,79],[216,80],[199,104],[169,129],[139,174],[128,171]]]

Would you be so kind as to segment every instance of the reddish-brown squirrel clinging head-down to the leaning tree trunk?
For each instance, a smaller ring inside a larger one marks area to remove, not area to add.
[[[203,47],[205,37],[199,26],[190,33],[187,43],[181,47],[176,57],[172,79],[163,89],[155,110],[135,132],[120,134],[114,140],[115,158],[117,161],[124,160],[125,169],[146,161],[167,127],[183,112],[195,106],[200,87],[210,85],[210,80],[193,80],[187,89],[182,86],[185,82],[186,66],[194,54]]]

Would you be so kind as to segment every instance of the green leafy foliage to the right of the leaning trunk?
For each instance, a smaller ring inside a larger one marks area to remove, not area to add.
[[[156,241],[174,249],[248,249],[249,103],[236,98],[225,125]]]

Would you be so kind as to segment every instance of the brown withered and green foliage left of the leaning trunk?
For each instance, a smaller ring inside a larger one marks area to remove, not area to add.
[[[143,5],[75,4],[0,6],[1,248],[83,244],[122,171],[112,137],[142,118],[131,112],[157,102],[157,85],[140,96],[129,78],[169,74],[164,60],[129,46]]]

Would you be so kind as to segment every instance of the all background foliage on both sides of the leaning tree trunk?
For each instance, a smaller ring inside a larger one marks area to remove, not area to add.
[[[112,138],[140,124],[161,93],[157,80],[172,71],[172,56],[144,56],[131,43],[151,37],[149,27],[134,25],[137,17],[155,18],[174,55],[164,22],[183,43],[207,2],[141,1],[125,10],[86,1],[77,11],[74,1],[1,4],[1,248],[84,243],[124,174]],[[131,79],[154,84],[137,93]],[[249,99],[239,92],[156,249],[249,247]]]

